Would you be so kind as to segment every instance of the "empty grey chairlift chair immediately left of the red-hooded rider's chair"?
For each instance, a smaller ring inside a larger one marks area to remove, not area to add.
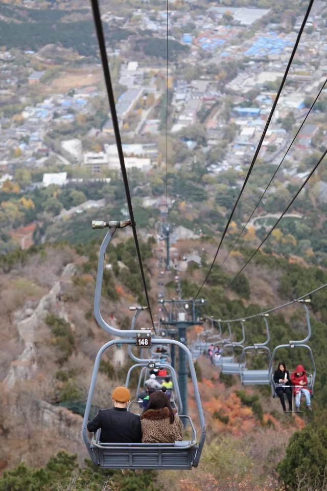
[[[263,314],[263,320],[265,323],[267,338],[264,343],[254,343],[253,346],[246,346],[241,354],[240,358],[240,376],[243,385],[270,385],[269,379],[269,365],[271,360],[270,349],[267,346],[270,341],[269,326],[266,317],[268,314]],[[255,354],[266,354],[268,356],[268,368],[263,370],[249,370],[246,367],[246,355],[249,352]]]

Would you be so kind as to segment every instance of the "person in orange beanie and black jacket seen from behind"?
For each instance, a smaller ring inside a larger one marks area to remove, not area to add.
[[[94,419],[87,423],[90,432],[101,428],[100,441],[110,443],[141,442],[139,417],[127,411],[131,394],[126,387],[116,387],[112,392],[113,408],[100,409]]]

